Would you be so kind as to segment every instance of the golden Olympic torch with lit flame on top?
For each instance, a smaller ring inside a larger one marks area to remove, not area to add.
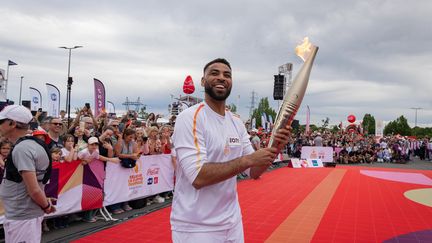
[[[304,64],[294,78],[293,84],[288,89],[288,93],[285,95],[282,105],[279,108],[279,112],[276,116],[272,130],[272,135],[270,137],[269,147],[279,147],[274,141],[274,134],[280,128],[286,128],[287,126],[290,126],[295,115],[297,114],[298,109],[300,108],[301,102],[306,92],[307,84],[309,82],[312,64],[315,60],[316,53],[318,52],[318,47],[312,45],[309,42],[309,39],[306,37],[304,38],[303,43],[296,47],[295,51],[297,56],[299,56],[304,61]]]

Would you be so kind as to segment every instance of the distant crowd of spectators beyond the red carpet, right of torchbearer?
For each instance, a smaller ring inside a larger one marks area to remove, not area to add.
[[[253,146],[264,147],[268,144],[270,133],[265,130],[251,129]],[[256,145],[257,144],[257,145]],[[301,158],[303,146],[332,147],[334,162],[355,163],[406,163],[413,157],[432,160],[432,139],[390,135],[376,138],[356,132],[340,130],[315,131],[311,134],[293,133],[285,153],[289,157]]]

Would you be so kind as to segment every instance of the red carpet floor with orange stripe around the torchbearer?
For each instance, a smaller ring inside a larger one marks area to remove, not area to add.
[[[432,184],[390,181],[361,174],[361,170],[409,172],[411,177],[416,173],[414,176],[419,178],[427,177],[420,178],[426,179],[426,183],[432,181],[431,171],[365,167],[274,170],[260,180],[238,184],[245,241],[428,242],[432,239],[428,238],[432,237],[429,201],[421,204],[404,196],[410,190],[432,188]],[[422,200],[432,201],[432,193],[423,195]],[[170,242],[170,210],[159,210],[76,242]]]

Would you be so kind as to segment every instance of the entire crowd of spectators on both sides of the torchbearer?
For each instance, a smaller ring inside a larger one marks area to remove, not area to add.
[[[171,135],[175,124],[175,116],[169,123],[157,123],[158,115],[150,113],[147,119],[138,118],[135,112],[128,112],[122,117],[109,116],[102,112],[95,117],[92,110],[84,106],[77,110],[73,120],[60,117],[41,117],[35,114],[33,136],[37,136],[48,144],[52,159],[59,163],[80,160],[88,164],[93,159],[105,162],[121,163],[124,167],[133,167],[133,161],[140,156],[171,154],[173,168],[175,155],[172,149]],[[255,150],[266,147],[270,133],[263,129],[251,129],[250,139]],[[332,147],[334,162],[340,164],[353,163],[405,163],[413,156],[422,160],[432,160],[432,140],[416,139],[399,135],[375,136],[362,135],[355,132],[315,131],[311,134],[293,133],[284,153],[289,157],[300,158],[303,146]],[[0,173],[3,174],[4,159],[10,153],[12,144],[0,137]],[[244,177],[245,175],[243,175]],[[242,178],[242,175],[240,175]],[[144,205],[162,203],[172,196],[169,192],[152,198],[143,199]],[[132,210],[131,202],[111,205],[108,209],[113,214]],[[142,204],[142,203],[140,203]],[[67,227],[71,220],[95,222],[95,210],[70,217],[61,216],[52,220],[51,227]],[[48,224],[44,230],[49,230]]]

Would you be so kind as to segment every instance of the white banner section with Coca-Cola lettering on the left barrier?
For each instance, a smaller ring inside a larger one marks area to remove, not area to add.
[[[108,163],[103,205],[144,198],[174,188],[171,155],[141,156],[134,168]]]

